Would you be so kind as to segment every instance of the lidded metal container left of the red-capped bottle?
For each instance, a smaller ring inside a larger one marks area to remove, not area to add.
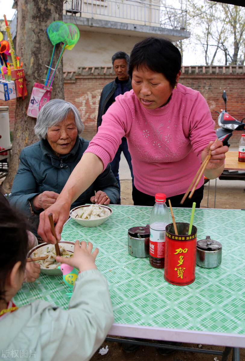
[[[150,225],[132,227],[128,230],[128,253],[133,257],[149,257]]]

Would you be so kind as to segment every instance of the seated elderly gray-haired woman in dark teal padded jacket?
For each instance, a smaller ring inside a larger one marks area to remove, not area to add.
[[[55,203],[89,145],[89,140],[79,138],[83,129],[77,108],[65,100],[50,100],[38,113],[34,131],[40,140],[21,151],[9,196],[10,203],[33,223],[35,234],[39,214]],[[118,197],[119,186],[108,165],[71,208],[85,203],[116,204]]]

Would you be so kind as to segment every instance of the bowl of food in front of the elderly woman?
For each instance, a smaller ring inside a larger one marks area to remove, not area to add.
[[[111,208],[100,204],[80,205],[70,211],[70,217],[83,227],[100,226],[111,214]]]

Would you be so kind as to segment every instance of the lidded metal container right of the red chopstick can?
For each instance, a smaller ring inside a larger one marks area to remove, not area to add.
[[[196,264],[203,268],[215,268],[221,264],[222,244],[210,239],[201,239],[197,242]]]

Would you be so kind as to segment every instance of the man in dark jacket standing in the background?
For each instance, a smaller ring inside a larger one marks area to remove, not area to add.
[[[109,106],[114,103],[116,96],[120,94],[124,94],[126,91],[132,89],[131,86],[131,79],[128,75],[128,63],[129,63],[129,56],[124,51],[119,51],[112,56],[112,65],[113,69],[117,75],[116,79],[106,84],[104,86],[102,93],[100,95],[99,101],[99,111],[98,111],[98,118],[97,118],[97,130],[98,127],[102,123],[102,116],[106,113]],[[134,185],[134,176],[133,176],[133,169],[131,164],[131,156],[128,151],[128,143],[125,137],[121,139],[121,144],[116,152],[116,155],[113,159],[111,164],[111,169],[113,174],[116,177],[117,183],[119,184],[120,188],[120,181],[119,181],[119,162],[121,158],[121,152],[123,152],[131,172],[132,177],[132,186]],[[117,204],[121,204],[121,199],[119,196],[119,200]]]

